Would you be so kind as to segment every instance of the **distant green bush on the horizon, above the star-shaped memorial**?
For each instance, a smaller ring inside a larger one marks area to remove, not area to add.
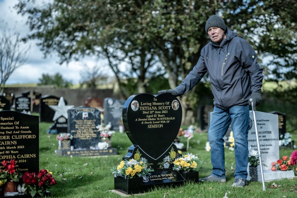
[[[38,80],[38,85],[54,85],[58,88],[70,88],[72,86],[72,82],[64,80],[58,72],[55,75],[42,74],[42,77]]]

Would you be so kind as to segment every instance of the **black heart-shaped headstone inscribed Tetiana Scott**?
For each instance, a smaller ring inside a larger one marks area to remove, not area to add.
[[[154,160],[172,145],[182,121],[179,100],[171,94],[140,93],[127,99],[123,123],[131,142]]]

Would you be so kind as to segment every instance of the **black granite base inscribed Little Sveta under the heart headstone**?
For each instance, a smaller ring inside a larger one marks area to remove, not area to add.
[[[198,182],[198,171],[155,171],[146,177],[128,178],[114,174],[114,189],[124,194],[149,192],[155,187],[174,187],[185,182]]]

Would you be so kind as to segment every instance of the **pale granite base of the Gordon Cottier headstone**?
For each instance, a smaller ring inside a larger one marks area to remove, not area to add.
[[[262,181],[262,177],[261,177],[261,171],[260,171],[260,167],[258,168],[258,182]],[[263,175],[264,175],[264,181],[268,182],[268,181],[273,181],[273,180],[278,180],[278,179],[293,179],[294,176],[294,171],[293,170],[287,170],[287,171],[283,171],[283,170],[276,170],[276,171],[272,171],[272,170],[263,170]],[[247,180],[251,180],[251,177],[248,174]]]

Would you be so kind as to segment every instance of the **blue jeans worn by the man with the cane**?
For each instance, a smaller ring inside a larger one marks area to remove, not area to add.
[[[247,179],[249,105],[233,106],[226,110],[214,107],[208,130],[211,163],[213,165],[212,175],[218,178],[226,178],[223,138],[231,122],[235,140],[236,166],[234,177]]]

